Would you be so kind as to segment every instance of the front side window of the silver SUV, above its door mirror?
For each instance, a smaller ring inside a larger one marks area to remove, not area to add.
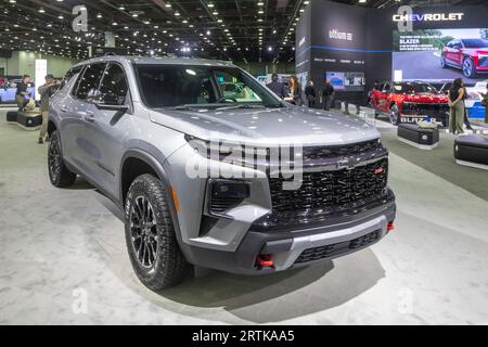
[[[111,63],[100,86],[101,101],[111,105],[124,105],[128,91],[129,86],[124,68],[118,64]]]

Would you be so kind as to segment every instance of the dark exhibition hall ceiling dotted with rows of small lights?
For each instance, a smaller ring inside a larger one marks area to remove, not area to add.
[[[317,0],[316,0],[317,1]],[[479,4],[486,0],[336,0],[398,4]],[[295,26],[309,0],[0,0],[0,49],[88,57],[112,31],[117,48],[138,55],[188,55],[234,61],[294,60]],[[88,31],[76,33],[75,7]]]

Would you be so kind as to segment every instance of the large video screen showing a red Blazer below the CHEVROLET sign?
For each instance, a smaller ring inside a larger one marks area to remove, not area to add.
[[[488,79],[488,28],[395,31],[393,76],[431,83]]]

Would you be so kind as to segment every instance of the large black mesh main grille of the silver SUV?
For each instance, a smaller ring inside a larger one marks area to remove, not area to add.
[[[391,201],[387,189],[388,159],[336,171],[304,172],[301,188],[283,190],[284,179],[270,178],[273,210],[260,221],[264,228],[324,222],[354,216]]]

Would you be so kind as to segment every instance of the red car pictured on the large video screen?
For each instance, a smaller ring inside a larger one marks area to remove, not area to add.
[[[442,50],[440,66],[461,68],[464,76],[488,73],[488,40],[460,39],[450,41]]]

